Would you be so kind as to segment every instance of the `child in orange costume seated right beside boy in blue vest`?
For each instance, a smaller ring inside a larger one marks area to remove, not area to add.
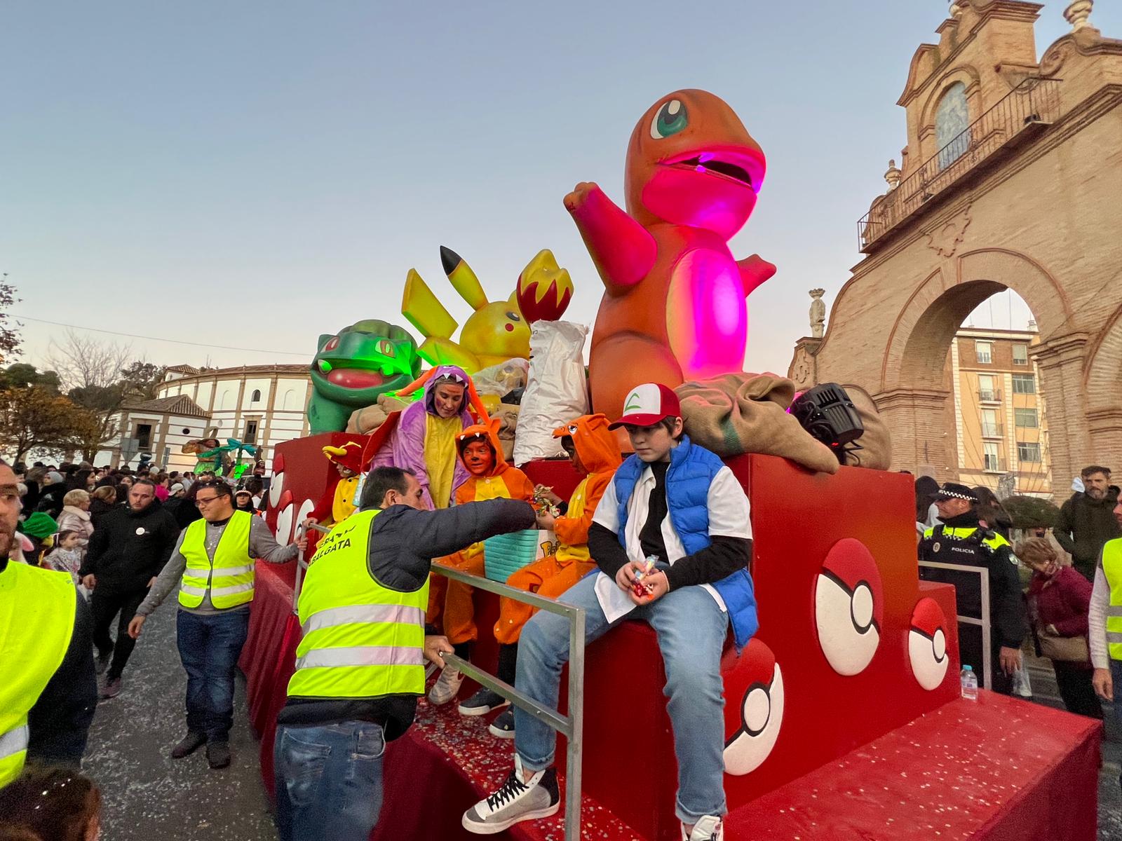
[[[563,516],[537,517],[541,528],[552,528],[557,534],[557,552],[522,567],[506,581],[511,586],[550,599],[557,599],[596,569],[596,562],[588,554],[588,529],[592,525],[596,506],[622,461],[616,436],[608,429],[608,418],[604,415],[581,415],[572,423],[554,429],[553,437],[561,438],[561,445],[569,453],[573,469],[588,475],[569,498],[569,507]],[[512,685],[517,665],[518,637],[522,627],[535,612],[536,608],[525,602],[514,599],[499,601],[499,618],[495,625],[495,639],[500,643],[498,677]],[[465,715],[481,715],[507,704],[506,699],[485,687],[460,704],[460,712]],[[500,738],[513,739],[513,708],[504,710],[491,722],[489,730]]]

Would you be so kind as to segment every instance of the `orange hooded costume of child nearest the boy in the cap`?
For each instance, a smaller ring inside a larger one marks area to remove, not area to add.
[[[581,415],[554,429],[553,437],[572,438],[577,458],[588,475],[569,498],[565,515],[553,521],[553,532],[560,544],[557,554],[522,567],[506,582],[550,599],[557,599],[596,566],[588,554],[588,529],[592,526],[596,506],[622,461],[616,436],[608,429],[608,418],[604,415]],[[502,599],[495,639],[503,644],[517,643],[523,626],[535,612],[536,608],[530,604]]]

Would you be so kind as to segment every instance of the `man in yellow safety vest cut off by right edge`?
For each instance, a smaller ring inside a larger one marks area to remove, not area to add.
[[[1114,506],[1114,519],[1122,526],[1122,501]],[[1087,644],[1091,648],[1091,677],[1095,692],[1114,703],[1114,715],[1122,724],[1122,537],[1107,540],[1098,553],[1095,586],[1091,591],[1087,614]],[[1119,778],[1122,783],[1122,777]]]

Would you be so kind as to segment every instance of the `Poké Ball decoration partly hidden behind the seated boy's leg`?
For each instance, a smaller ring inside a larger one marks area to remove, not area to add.
[[[734,686],[744,685],[739,699]],[[725,676],[725,773],[751,774],[771,756],[783,723],[783,673],[775,655],[753,639],[741,655],[734,674]]]

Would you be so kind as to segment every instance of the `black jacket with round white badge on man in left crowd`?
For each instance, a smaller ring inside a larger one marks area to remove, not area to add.
[[[172,556],[180,527],[158,499],[142,511],[118,508],[94,527],[80,575],[93,573],[98,588],[144,590]]]

